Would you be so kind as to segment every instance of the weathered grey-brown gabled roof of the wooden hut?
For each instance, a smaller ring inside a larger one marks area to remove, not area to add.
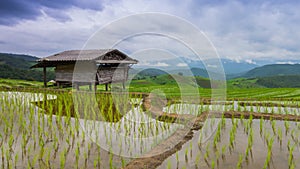
[[[127,63],[138,61],[130,58],[117,49],[69,50],[37,60],[31,68],[54,67],[60,64],[70,64],[77,61],[94,61],[96,63]]]

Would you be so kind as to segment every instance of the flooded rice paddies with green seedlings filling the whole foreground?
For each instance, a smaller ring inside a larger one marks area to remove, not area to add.
[[[125,113],[92,120],[71,116],[73,109],[63,105],[47,109],[64,110],[65,115],[43,113],[32,102],[45,97],[59,100],[56,95],[1,93],[1,168],[300,167],[299,109],[294,103],[173,103],[155,109],[139,96],[129,98]],[[101,111],[120,108],[110,104]],[[240,114],[231,117],[230,112]],[[270,116],[265,120],[251,112]],[[278,120],[275,115],[281,114],[286,116]]]

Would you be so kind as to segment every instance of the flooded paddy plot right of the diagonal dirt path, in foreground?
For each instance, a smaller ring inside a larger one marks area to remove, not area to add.
[[[251,128],[247,127],[249,121],[226,119],[217,141],[216,131],[209,140],[199,144],[201,131],[197,131],[191,141],[183,145],[180,151],[166,159],[158,168],[300,167],[299,123],[288,122],[287,129],[284,121],[263,120],[263,129],[261,129],[260,120],[253,120]],[[233,125],[237,125],[237,128],[231,144]],[[252,142],[251,146],[249,146],[250,142]],[[271,146],[270,154],[268,154],[268,146]],[[267,162],[268,156],[270,156],[269,162]]]

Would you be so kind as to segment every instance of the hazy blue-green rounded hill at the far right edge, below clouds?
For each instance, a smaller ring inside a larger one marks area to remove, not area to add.
[[[300,75],[300,64],[273,64],[265,65],[262,67],[254,68],[241,77],[253,78],[253,77],[271,77],[282,75]]]

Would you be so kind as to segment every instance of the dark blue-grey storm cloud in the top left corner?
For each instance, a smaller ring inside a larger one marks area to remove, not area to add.
[[[102,10],[100,1],[81,0],[1,0],[0,1],[0,25],[15,25],[22,20],[34,20],[45,14],[58,21],[68,21],[64,9],[77,7],[90,10]]]

